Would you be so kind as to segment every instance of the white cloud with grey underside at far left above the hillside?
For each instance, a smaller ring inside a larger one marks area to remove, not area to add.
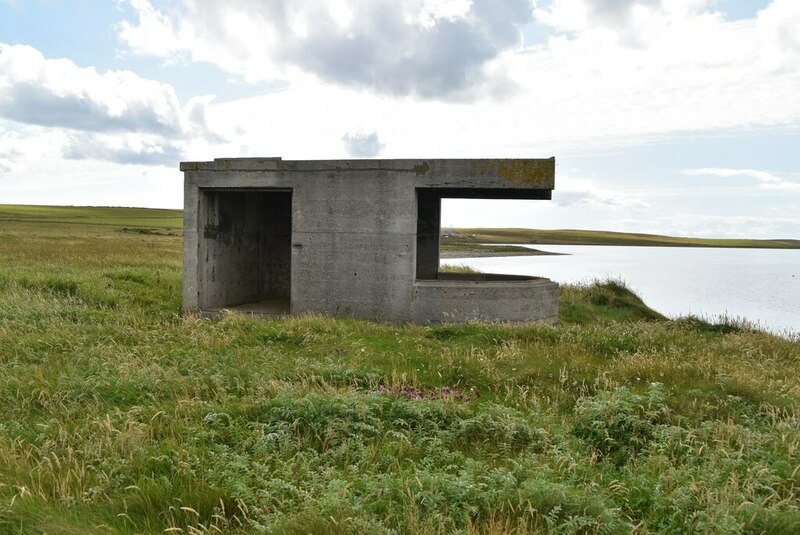
[[[182,107],[168,84],[130,71],[99,73],[45,58],[30,46],[0,43],[0,118],[71,132],[59,145],[68,159],[176,166],[190,141],[224,142],[208,124],[213,100],[197,96]],[[0,168],[11,169],[9,162],[0,154]]]

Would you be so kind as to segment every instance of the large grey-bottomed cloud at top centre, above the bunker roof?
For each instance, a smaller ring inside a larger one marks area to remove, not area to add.
[[[521,43],[532,17],[530,0],[183,0],[171,12],[130,4],[137,20],[118,29],[138,54],[205,61],[251,81],[303,71],[385,94],[451,99],[482,94],[485,67]]]

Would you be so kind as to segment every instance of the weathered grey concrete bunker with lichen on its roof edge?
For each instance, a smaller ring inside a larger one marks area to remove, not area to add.
[[[186,311],[288,298],[292,314],[396,322],[557,318],[545,279],[438,273],[441,199],[549,199],[552,158],[243,158],[181,170]]]

